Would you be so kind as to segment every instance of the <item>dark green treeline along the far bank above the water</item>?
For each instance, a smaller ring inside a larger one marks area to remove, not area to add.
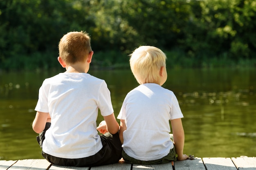
[[[87,31],[94,67],[124,67],[139,45],[171,67],[256,65],[255,0],[1,0],[0,70],[60,67],[58,41]]]

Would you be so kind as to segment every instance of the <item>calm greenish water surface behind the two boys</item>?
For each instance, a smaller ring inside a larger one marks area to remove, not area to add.
[[[105,79],[117,116],[138,84],[130,70],[89,71]],[[256,69],[168,70],[184,114],[184,153],[196,157],[256,156]],[[31,128],[38,89],[56,72],[0,73],[0,159],[41,159]],[[98,117],[98,122],[102,117]],[[118,120],[119,121],[119,120]]]

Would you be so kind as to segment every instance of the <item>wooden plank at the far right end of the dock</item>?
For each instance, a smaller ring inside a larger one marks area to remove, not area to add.
[[[256,157],[232,157],[238,170],[256,170]]]

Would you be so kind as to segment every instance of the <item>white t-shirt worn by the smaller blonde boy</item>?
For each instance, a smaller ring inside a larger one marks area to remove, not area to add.
[[[157,160],[173,148],[170,120],[183,118],[172,91],[155,83],[139,85],[124,99],[118,119],[125,120],[123,149],[142,161]]]

